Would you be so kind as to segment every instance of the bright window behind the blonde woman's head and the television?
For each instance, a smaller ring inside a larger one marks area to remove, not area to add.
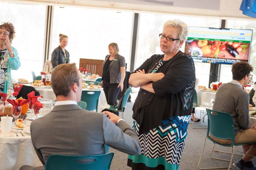
[[[185,17],[173,16],[163,14],[147,14],[141,13],[139,18],[139,31],[138,31],[138,45],[135,59],[135,69],[138,68],[146,59],[153,54],[163,54],[160,50],[158,35],[163,31],[163,25],[167,20],[180,19],[188,26],[197,27],[215,27],[219,28],[220,20],[214,18],[199,18],[199,17]],[[184,51],[184,46],[181,48]],[[199,84],[208,86],[210,64],[209,63],[196,63],[196,77]]]

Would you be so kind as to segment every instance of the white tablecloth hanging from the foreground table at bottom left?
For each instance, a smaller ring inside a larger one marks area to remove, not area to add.
[[[42,166],[30,134],[23,132],[19,137],[0,136],[0,166],[1,170],[19,170],[22,165]]]

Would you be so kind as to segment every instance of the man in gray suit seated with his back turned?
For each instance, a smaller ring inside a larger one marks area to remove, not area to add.
[[[51,79],[56,105],[49,114],[31,123],[32,143],[43,165],[52,154],[103,154],[104,144],[127,154],[140,153],[138,137],[124,120],[108,111],[95,113],[77,105],[82,95],[82,77],[75,63],[58,65]],[[32,169],[44,167],[20,168]]]

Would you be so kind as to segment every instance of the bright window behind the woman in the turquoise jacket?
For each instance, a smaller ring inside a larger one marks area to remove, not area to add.
[[[16,30],[12,46],[18,51],[21,67],[11,70],[12,78],[32,81],[34,71],[40,74],[43,66],[44,23],[46,6],[0,2],[1,21],[11,22]]]

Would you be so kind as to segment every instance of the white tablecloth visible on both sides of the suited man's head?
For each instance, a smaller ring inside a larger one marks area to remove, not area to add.
[[[39,91],[40,95],[43,96],[45,99],[50,99],[52,101],[56,100],[56,96],[52,90],[50,89],[45,89],[45,88],[35,88],[37,91]],[[83,89],[83,90],[91,90],[95,91],[94,89]],[[100,97],[99,97],[99,102],[98,102],[98,111],[101,111],[105,108],[109,108],[110,105],[108,105],[108,102],[106,100],[106,96],[104,93],[104,90],[101,89]]]

